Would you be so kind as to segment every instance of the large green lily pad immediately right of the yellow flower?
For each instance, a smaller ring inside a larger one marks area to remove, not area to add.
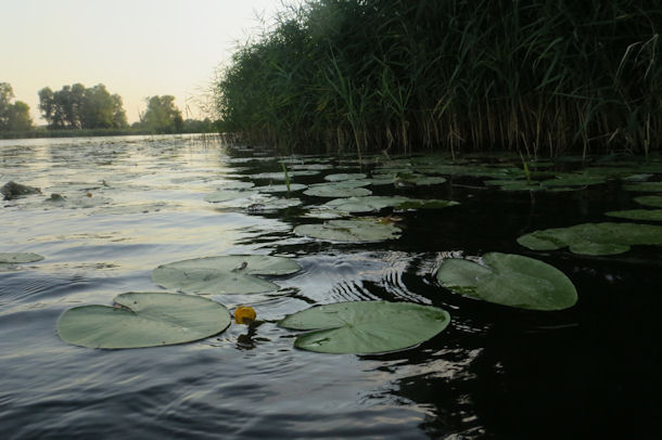
[[[313,329],[294,347],[321,353],[370,354],[404,350],[448,326],[443,309],[410,302],[352,301],[313,307],[278,322],[291,329]]]

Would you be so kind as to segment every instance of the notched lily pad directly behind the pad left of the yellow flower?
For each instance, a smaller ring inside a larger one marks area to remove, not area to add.
[[[228,255],[163,264],[154,269],[152,280],[187,294],[259,294],[279,286],[256,275],[289,275],[300,270],[296,261],[285,257]]]

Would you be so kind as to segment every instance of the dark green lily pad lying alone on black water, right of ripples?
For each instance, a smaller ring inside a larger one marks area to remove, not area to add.
[[[436,279],[454,293],[520,309],[562,310],[577,301],[577,292],[568,276],[546,262],[489,253],[482,263],[449,258],[440,267]]]

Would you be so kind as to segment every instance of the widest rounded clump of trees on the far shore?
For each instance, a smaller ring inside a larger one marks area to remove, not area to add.
[[[101,83],[63,86],[56,92],[46,87],[39,91],[39,109],[54,129],[128,127],[122,98]]]

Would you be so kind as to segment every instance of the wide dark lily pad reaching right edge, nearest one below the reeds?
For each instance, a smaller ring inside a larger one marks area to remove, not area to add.
[[[534,250],[556,250],[569,247],[584,255],[616,255],[632,245],[662,245],[662,227],[638,223],[582,223],[570,228],[535,231],[518,238],[518,243]]]

